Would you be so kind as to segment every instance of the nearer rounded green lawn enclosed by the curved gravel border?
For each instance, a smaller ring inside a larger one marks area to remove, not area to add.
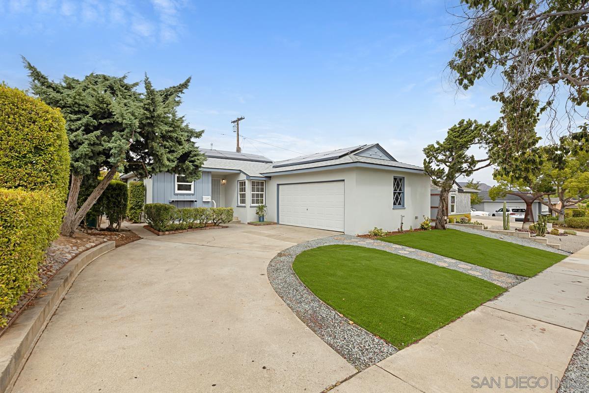
[[[307,250],[293,270],[319,299],[397,348],[505,291],[466,273],[359,246]]]

